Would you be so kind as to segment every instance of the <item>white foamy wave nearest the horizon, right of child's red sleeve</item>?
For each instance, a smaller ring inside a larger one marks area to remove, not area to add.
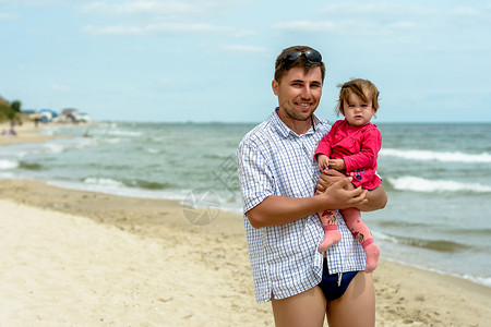
[[[443,162],[467,162],[467,164],[490,164],[491,154],[465,154],[460,152],[432,152],[418,149],[395,149],[382,148],[381,156],[392,156],[420,161],[443,161]]]

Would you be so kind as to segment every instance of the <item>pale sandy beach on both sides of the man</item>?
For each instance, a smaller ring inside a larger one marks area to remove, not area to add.
[[[3,141],[44,141],[28,133]],[[0,326],[274,325],[237,214],[195,226],[179,202],[20,180],[0,213]],[[384,259],[373,276],[376,326],[491,322],[490,288]]]

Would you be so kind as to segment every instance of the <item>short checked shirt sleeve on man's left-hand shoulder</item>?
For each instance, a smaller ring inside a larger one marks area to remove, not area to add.
[[[241,143],[236,157],[246,214],[264,198],[275,194],[274,174],[268,160],[254,144]]]

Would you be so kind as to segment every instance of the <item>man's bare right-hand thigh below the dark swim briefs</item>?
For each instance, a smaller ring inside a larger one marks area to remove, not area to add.
[[[328,302],[327,323],[330,327],[375,326],[375,292],[372,274],[358,272],[343,296]]]

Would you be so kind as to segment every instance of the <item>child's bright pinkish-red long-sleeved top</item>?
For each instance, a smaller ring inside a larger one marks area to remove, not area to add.
[[[373,190],[381,183],[375,173],[381,146],[382,134],[376,125],[350,126],[346,119],[338,120],[319,143],[315,158],[322,154],[331,159],[344,159],[352,184]]]

